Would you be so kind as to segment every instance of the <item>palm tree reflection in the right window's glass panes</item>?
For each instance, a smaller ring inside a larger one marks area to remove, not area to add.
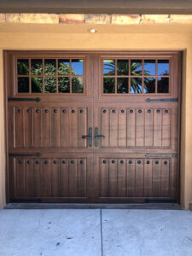
[[[115,63],[111,61],[105,63],[104,65],[105,75],[113,76],[115,74]],[[106,72],[108,70],[108,73]],[[117,68],[118,75],[127,75],[128,74],[128,61],[119,61]],[[131,78],[131,91],[135,93],[142,93],[142,79],[139,76],[142,76],[142,62],[131,62],[131,76],[136,76],[138,78]],[[149,71],[144,71],[144,75],[149,75]],[[107,78],[106,78],[107,79]],[[105,93],[111,93],[113,90],[113,83],[111,78],[108,78],[108,88],[106,88]],[[107,84],[107,81],[106,81]],[[118,79],[117,90],[119,93],[127,92],[127,80],[124,78]],[[154,80],[145,78],[144,79],[144,90],[146,93],[154,90]]]

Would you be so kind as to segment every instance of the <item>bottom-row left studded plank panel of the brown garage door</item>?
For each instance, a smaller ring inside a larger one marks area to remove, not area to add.
[[[12,199],[87,197],[87,158],[13,158]]]

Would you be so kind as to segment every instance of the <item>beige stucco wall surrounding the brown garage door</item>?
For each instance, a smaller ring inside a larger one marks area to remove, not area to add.
[[[3,49],[183,50],[181,203],[192,202],[192,27],[189,25],[0,26],[0,207],[5,205]]]

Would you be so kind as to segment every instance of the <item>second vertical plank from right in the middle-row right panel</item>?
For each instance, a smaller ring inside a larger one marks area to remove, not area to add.
[[[154,109],[154,147],[162,145],[162,109]]]

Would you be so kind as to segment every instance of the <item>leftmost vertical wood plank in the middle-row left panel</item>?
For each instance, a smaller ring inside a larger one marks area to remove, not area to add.
[[[15,148],[24,147],[23,108],[15,108]]]

